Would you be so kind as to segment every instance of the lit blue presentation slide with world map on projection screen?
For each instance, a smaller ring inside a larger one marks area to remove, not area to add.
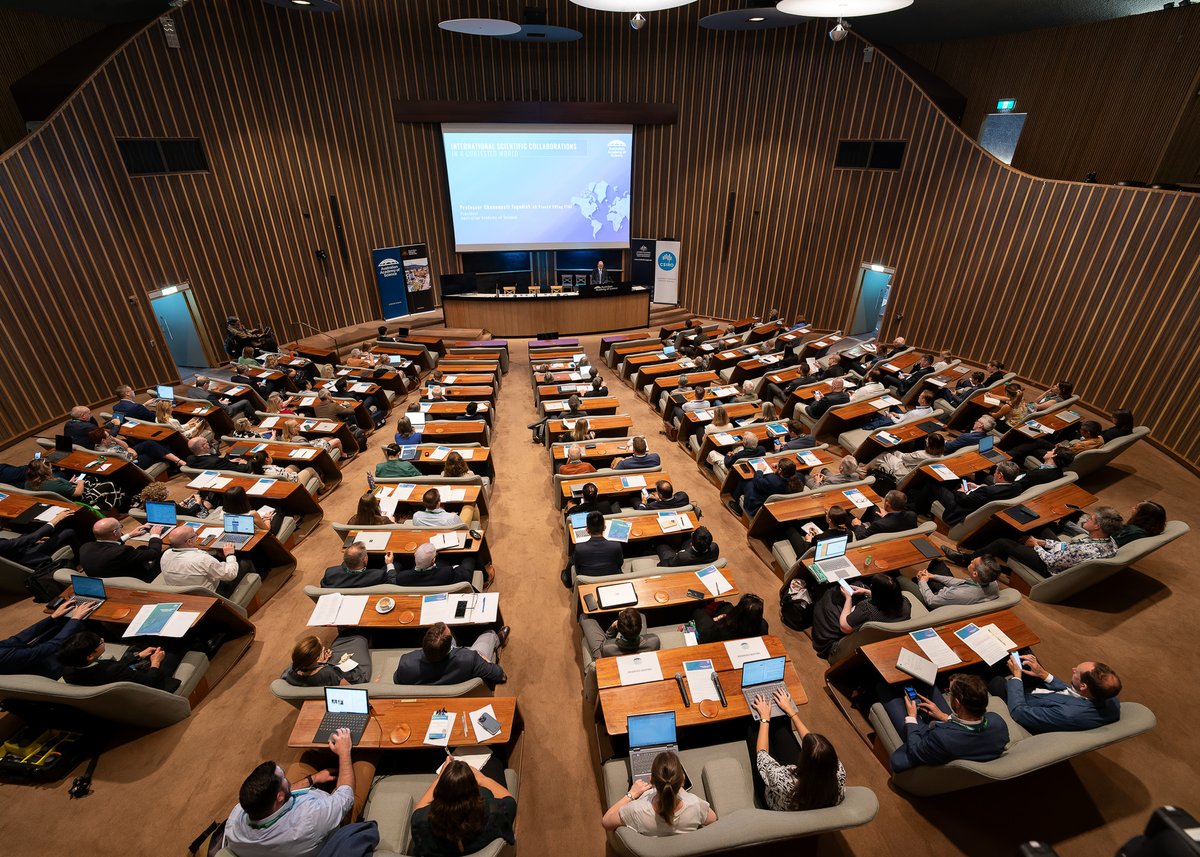
[[[631,125],[443,125],[455,250],[629,246]]]

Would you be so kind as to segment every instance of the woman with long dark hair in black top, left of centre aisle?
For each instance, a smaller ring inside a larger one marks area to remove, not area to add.
[[[492,761],[498,762],[494,755]],[[496,767],[496,775],[503,778],[503,763]],[[517,801],[500,783],[467,762],[449,759],[413,809],[413,853],[457,857],[497,839],[515,845],[516,814]]]

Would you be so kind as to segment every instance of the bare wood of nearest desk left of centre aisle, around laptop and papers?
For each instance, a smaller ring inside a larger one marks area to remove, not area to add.
[[[425,741],[425,733],[430,729],[430,720],[433,718],[433,714],[440,709],[457,714],[454,721],[454,735],[450,738],[450,747],[473,747],[478,742],[475,741],[475,731],[472,729],[470,724],[467,724],[467,737],[463,737],[462,733],[462,727],[466,723],[464,717],[487,705],[492,706],[492,711],[496,712],[496,719],[500,721],[502,729],[498,735],[488,738],[484,743],[505,744],[512,737],[512,730],[516,723],[517,700],[515,696],[455,696],[421,700],[371,700],[373,717],[367,721],[367,727],[364,730],[362,737],[355,747],[376,750],[428,749],[430,745],[422,743]],[[312,737],[317,735],[317,729],[320,726],[322,718],[324,717],[324,700],[305,700],[305,703],[300,707],[299,714],[296,714],[296,721],[292,727],[292,735],[288,737],[288,747],[328,747],[328,742],[324,744],[316,744],[312,741]],[[409,732],[409,737],[403,743],[396,743],[396,741],[392,741],[392,732],[395,732],[398,726],[407,727]]]

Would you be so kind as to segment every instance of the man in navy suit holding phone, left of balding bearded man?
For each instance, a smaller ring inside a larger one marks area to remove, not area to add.
[[[881,576],[881,575],[876,575]],[[928,684],[913,684],[919,702],[901,685],[880,688],[880,701],[905,743],[892,754],[892,773],[955,759],[989,762],[1008,745],[1008,724],[988,713],[988,685],[978,676],[950,676],[949,702]],[[922,693],[924,691],[924,693]],[[925,718],[925,723],[918,720]]]

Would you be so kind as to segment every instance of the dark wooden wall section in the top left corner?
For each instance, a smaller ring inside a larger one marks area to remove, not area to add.
[[[103,24],[0,7],[0,150],[25,136],[25,120],[8,86],[55,54],[104,29]]]

